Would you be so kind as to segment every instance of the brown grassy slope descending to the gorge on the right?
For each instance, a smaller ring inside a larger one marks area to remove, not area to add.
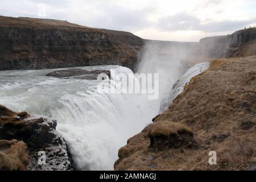
[[[115,170],[253,170],[256,56],[218,59],[119,149]],[[217,164],[210,165],[215,151]]]

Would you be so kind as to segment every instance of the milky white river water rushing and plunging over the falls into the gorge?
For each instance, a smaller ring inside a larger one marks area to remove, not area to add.
[[[78,169],[112,170],[118,149],[158,114],[164,93],[182,75],[180,67],[177,62],[171,70],[154,65],[159,72],[158,100],[148,100],[147,94],[98,93],[97,80],[45,76],[57,69],[1,71],[0,104],[57,119],[57,131],[67,140]],[[132,73],[117,65],[80,68]],[[155,72],[152,68],[141,66],[139,72]]]

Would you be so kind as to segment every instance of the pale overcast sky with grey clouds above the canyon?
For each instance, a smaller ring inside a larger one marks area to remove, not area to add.
[[[197,42],[256,25],[256,1],[0,0],[0,15],[68,20],[130,31],[144,39]]]

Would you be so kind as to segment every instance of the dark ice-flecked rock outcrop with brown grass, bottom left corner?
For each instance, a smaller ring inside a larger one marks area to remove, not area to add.
[[[72,170],[67,143],[56,125],[54,119],[0,105],[0,170]]]

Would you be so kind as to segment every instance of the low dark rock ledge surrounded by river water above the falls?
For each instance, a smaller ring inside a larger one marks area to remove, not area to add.
[[[52,76],[52,77],[57,77],[57,78],[74,77],[75,76],[75,78],[80,78],[80,79],[84,79],[84,80],[97,80],[97,77],[99,75],[110,78],[110,71],[109,70],[98,70],[98,69],[88,71],[85,69],[73,68],[73,69],[64,69],[64,70],[54,71],[54,72],[48,73],[46,76]]]

